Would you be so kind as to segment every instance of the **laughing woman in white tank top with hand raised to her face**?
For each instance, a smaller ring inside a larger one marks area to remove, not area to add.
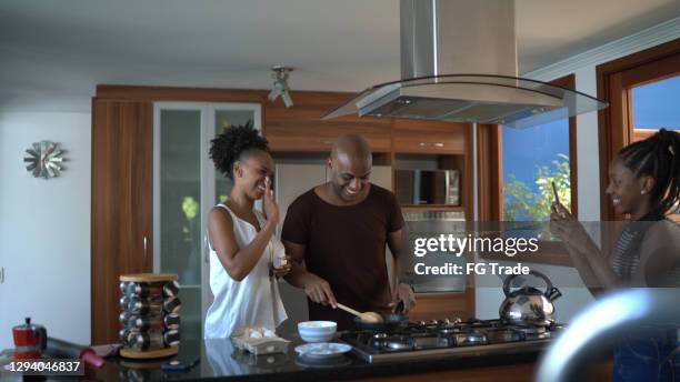
[[[274,330],[286,320],[276,277],[290,271],[281,241],[274,237],[279,207],[272,185],[273,160],[267,140],[252,123],[233,127],[211,141],[210,158],[233,181],[223,204],[208,217],[210,289],[204,338],[228,338],[240,329]],[[262,210],[256,210],[256,200]]]

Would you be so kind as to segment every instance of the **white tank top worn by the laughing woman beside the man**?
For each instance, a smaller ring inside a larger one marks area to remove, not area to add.
[[[239,248],[246,248],[258,231],[249,222],[237,217],[227,205],[218,204],[229,211],[233,222],[233,233]],[[260,227],[266,220],[260,211],[253,210]],[[250,273],[241,281],[233,280],[217,252],[210,244],[210,290],[214,300],[208,309],[204,339],[229,338],[242,326],[268,328],[274,330],[288,316],[279,285],[274,277],[269,277],[271,257],[283,255],[283,244],[274,235],[264,248],[264,253]]]

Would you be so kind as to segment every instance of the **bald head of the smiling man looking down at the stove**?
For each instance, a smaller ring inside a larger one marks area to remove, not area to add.
[[[330,184],[340,200],[351,203],[366,197],[373,164],[366,139],[357,134],[338,138],[328,164]]]

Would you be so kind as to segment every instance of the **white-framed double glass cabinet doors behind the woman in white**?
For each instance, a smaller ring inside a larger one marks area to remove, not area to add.
[[[216,173],[210,141],[248,120],[260,129],[260,105],[157,102],[153,105],[153,271],[177,273],[182,341],[200,340],[209,286],[207,217],[231,182]]]

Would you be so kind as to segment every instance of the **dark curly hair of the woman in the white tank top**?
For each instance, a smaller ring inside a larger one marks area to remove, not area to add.
[[[252,121],[243,125],[234,125],[210,141],[210,159],[214,168],[227,178],[233,180],[233,163],[244,160],[253,150],[269,152],[267,139],[252,127]]]

